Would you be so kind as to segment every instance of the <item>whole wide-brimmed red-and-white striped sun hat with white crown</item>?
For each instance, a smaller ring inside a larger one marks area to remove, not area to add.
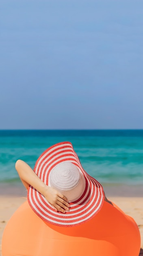
[[[57,212],[41,193],[29,186],[28,203],[44,221],[73,227],[90,220],[102,208],[103,188],[82,168],[70,142],[61,142],[45,150],[37,159],[34,171],[46,185],[65,195],[70,204],[66,213]]]

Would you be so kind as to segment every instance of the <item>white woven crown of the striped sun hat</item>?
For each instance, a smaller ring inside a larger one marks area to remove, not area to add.
[[[80,198],[85,190],[85,178],[71,162],[61,162],[50,172],[50,186],[65,195],[70,202]]]

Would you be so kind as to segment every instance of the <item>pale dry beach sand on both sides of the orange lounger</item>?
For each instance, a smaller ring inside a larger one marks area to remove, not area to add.
[[[143,197],[108,197],[117,204],[125,213],[132,216],[137,222],[141,233],[141,248],[143,249]],[[11,218],[15,210],[26,201],[24,196],[15,195],[0,195],[0,256],[1,255],[1,240],[4,227]],[[140,255],[143,255],[141,249]]]

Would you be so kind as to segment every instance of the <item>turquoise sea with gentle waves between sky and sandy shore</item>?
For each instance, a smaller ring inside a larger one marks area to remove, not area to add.
[[[99,182],[143,185],[143,130],[0,130],[0,184],[20,183],[16,160],[33,168],[61,141],[72,142],[85,171]]]

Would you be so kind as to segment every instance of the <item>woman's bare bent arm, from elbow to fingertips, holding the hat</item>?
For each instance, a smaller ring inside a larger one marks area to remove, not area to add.
[[[56,191],[56,189],[47,186],[28,164],[22,160],[17,160],[15,169],[26,189],[31,185],[39,191],[56,210],[63,213],[69,210],[70,205],[67,202],[67,198]]]

